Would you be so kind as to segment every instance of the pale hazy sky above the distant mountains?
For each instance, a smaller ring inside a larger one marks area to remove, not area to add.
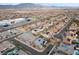
[[[0,5],[17,5],[20,3],[0,3]],[[37,3],[35,3],[37,4]],[[40,3],[41,4],[41,3]],[[42,3],[42,5],[47,6],[73,6],[73,7],[79,7],[79,3]]]

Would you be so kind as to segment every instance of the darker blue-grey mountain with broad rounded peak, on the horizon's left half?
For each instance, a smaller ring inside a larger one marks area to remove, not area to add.
[[[0,9],[43,8],[45,6],[33,3],[21,3],[18,5],[0,5]]]

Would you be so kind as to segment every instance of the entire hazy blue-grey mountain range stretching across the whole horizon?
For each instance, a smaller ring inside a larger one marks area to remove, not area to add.
[[[34,4],[34,3],[21,3],[18,5],[0,5],[0,9],[26,9],[26,8],[61,8],[61,9],[77,9],[79,7],[73,6],[60,6],[57,4]]]

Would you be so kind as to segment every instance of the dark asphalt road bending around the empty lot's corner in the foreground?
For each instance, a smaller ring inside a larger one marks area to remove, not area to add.
[[[53,48],[53,45],[49,45],[43,52],[38,52],[35,49],[23,44],[22,42],[15,40],[13,38],[10,39],[9,41],[10,42],[12,41],[12,43],[15,46],[22,48],[22,50],[24,50],[25,52],[27,52],[27,51],[30,52],[31,55],[47,55],[50,52],[50,50]]]

